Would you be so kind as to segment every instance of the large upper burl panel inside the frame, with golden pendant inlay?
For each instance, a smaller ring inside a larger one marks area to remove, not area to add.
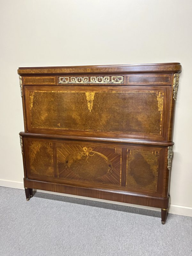
[[[164,90],[28,93],[32,129],[162,134]]]

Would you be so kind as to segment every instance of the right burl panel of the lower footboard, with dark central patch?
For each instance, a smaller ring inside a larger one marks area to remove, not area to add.
[[[160,150],[127,149],[127,187],[157,189]]]

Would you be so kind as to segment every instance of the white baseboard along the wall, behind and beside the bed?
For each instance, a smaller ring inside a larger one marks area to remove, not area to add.
[[[24,189],[23,182],[14,181],[14,180],[1,180],[0,179],[0,186],[8,187],[8,188]],[[36,190],[36,189],[34,189],[34,190]],[[161,211],[161,209],[159,209],[159,208],[137,205],[137,204],[126,204],[126,203],[114,202],[114,201],[109,201],[109,200],[104,200],[104,199],[97,199],[97,198],[91,198],[91,197],[85,197],[85,196],[74,196],[74,195],[69,195],[69,194],[62,194],[62,193],[44,191],[44,190],[38,190],[38,189],[36,191],[48,193],[48,194],[54,194],[54,195],[70,196],[70,197],[82,198],[82,199],[87,199],[87,200],[111,203],[111,204],[126,205],[126,206],[137,207],[137,208],[148,209],[148,210],[159,211],[159,212]],[[170,204],[169,213],[192,217],[192,207]]]

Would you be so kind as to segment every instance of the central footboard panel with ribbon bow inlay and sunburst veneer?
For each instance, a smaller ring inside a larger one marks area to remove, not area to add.
[[[86,143],[56,147],[59,178],[121,184],[121,148],[90,147]]]

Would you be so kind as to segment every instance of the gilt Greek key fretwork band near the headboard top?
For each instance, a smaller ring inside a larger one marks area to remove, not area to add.
[[[123,84],[124,76],[59,77],[59,84]]]

